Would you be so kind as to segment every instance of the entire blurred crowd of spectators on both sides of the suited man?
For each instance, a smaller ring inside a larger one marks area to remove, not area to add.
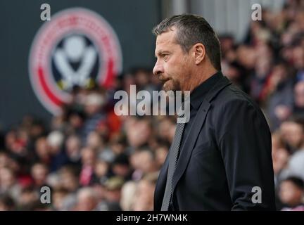
[[[304,210],[304,1],[263,8],[246,38],[220,36],[222,72],[255,99],[272,131],[277,210]],[[110,89],[76,87],[51,122],[27,115],[0,134],[0,210],[153,210],[176,117],[118,116],[115,91],[160,90],[151,68]],[[131,102],[129,107],[136,107]],[[51,188],[51,204],[40,201]]]

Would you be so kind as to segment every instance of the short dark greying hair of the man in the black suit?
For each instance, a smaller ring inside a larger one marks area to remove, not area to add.
[[[182,14],[166,18],[153,28],[156,36],[168,32],[172,27],[177,28],[177,43],[185,52],[192,46],[201,43],[205,46],[207,56],[216,70],[221,70],[220,41],[209,23],[199,15]]]

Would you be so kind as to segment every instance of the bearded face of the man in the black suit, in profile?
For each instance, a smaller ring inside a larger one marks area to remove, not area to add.
[[[165,91],[188,91],[191,56],[177,44],[174,28],[156,38],[156,58],[153,74],[163,82]]]

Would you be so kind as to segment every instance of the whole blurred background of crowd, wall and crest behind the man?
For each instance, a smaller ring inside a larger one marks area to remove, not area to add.
[[[223,74],[267,117],[277,210],[304,210],[301,0],[0,1],[0,210],[153,210],[176,118],[115,115],[113,96],[161,89],[151,30],[180,13],[214,27]]]

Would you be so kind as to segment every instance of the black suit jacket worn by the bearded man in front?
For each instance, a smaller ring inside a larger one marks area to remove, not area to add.
[[[172,179],[175,210],[275,210],[270,129],[258,105],[222,74],[202,96],[184,141]],[[167,169],[168,158],[154,210],[161,208]],[[255,186],[262,203],[252,200]]]

